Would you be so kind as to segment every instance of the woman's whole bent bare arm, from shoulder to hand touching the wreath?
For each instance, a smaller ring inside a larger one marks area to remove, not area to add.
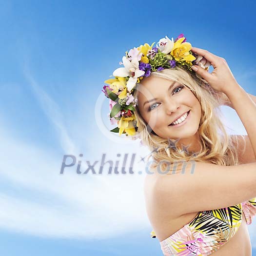
[[[241,119],[256,153],[256,104],[236,82],[226,61],[208,51],[192,51],[209,60],[215,70],[208,73],[198,66],[198,74],[217,91],[225,93]],[[256,156],[256,154],[255,154]],[[187,213],[233,206],[256,197],[256,162],[224,166],[189,162],[181,172],[159,175],[153,189],[152,207],[163,213],[181,216]]]

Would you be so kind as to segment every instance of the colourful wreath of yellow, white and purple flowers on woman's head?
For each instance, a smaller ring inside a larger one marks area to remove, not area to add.
[[[200,55],[192,53],[191,44],[186,42],[183,34],[177,39],[169,39],[167,36],[158,41],[157,47],[148,43],[134,47],[129,52],[125,52],[120,65],[113,72],[114,79],[108,79],[104,82],[102,92],[109,98],[110,113],[108,114],[111,124],[117,124],[118,127],[111,132],[125,134],[135,137],[138,130],[137,120],[134,114],[137,99],[133,97],[136,84],[144,77],[149,77],[151,72],[163,69],[181,66],[194,72],[191,66],[195,63],[208,71],[211,63]],[[193,63],[192,63],[193,62]],[[194,72],[195,73],[195,72]],[[200,75],[195,73],[197,78],[207,83]]]

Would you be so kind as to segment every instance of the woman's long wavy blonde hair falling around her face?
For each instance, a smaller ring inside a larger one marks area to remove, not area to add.
[[[179,66],[152,72],[151,76],[180,82],[189,88],[195,97],[197,97],[201,105],[201,119],[198,134],[202,145],[197,155],[191,155],[191,152],[185,152],[177,145],[176,150],[168,147],[168,139],[159,137],[153,131],[148,131],[148,125],[141,117],[137,104],[135,110],[138,126],[137,132],[141,138],[141,142],[153,151],[151,156],[148,157],[148,159],[150,157],[153,158],[153,166],[156,166],[160,161],[167,161],[172,164],[178,161],[190,160],[218,165],[237,165],[238,155],[236,146],[238,139],[236,136],[229,136],[227,134],[225,126],[220,119],[220,117],[223,116],[219,106],[223,102],[220,101],[220,98],[215,97],[216,93],[213,89],[210,90],[210,87],[204,84],[195,75],[192,75],[188,70]],[[143,85],[140,83],[137,84],[134,91],[135,98],[138,97],[138,86]],[[158,150],[154,151],[156,148],[158,148]],[[163,168],[162,166],[166,166],[166,164],[161,164],[161,168]]]

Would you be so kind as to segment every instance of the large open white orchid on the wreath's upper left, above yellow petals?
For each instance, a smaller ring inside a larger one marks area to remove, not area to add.
[[[125,78],[125,77],[130,77],[129,80],[126,83],[126,87],[128,92],[131,92],[131,90],[134,88],[134,86],[136,85],[137,79],[139,77],[141,77],[142,75],[144,75],[145,71],[139,70],[138,68],[138,64],[139,64],[139,60],[141,59],[141,54],[138,54],[138,50],[137,49],[132,49],[129,51],[129,53],[132,54],[133,58],[129,58],[127,59],[126,56],[123,56],[122,58],[122,64],[124,65],[123,68],[118,68],[113,72],[113,76],[115,77],[121,77],[121,78]],[[139,60],[138,60],[139,59]]]

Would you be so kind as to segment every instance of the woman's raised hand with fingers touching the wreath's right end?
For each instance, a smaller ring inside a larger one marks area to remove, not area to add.
[[[234,85],[239,86],[225,59],[197,47],[192,47],[191,51],[203,56],[214,67],[214,71],[209,73],[198,65],[192,66],[192,69],[197,67],[197,71],[193,70],[205,79],[214,90],[227,94],[230,90],[234,90]]]

